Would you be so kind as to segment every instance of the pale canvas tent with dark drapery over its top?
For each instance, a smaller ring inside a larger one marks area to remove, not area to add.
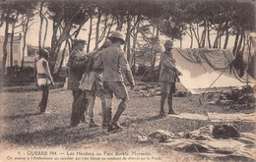
[[[183,75],[180,81],[192,93],[196,93],[196,88],[208,88],[214,81],[216,87],[246,85],[246,73],[239,78],[230,64],[234,59],[230,50],[173,48],[172,53],[176,67]],[[251,77],[248,81],[252,85],[256,82]]]

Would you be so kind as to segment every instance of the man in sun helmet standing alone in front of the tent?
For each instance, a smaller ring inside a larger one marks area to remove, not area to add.
[[[160,116],[164,116],[164,102],[167,98],[169,111],[168,114],[175,114],[172,109],[172,97],[175,93],[175,82],[181,73],[175,67],[171,49],[173,43],[166,40],[164,43],[165,51],[160,55]]]

